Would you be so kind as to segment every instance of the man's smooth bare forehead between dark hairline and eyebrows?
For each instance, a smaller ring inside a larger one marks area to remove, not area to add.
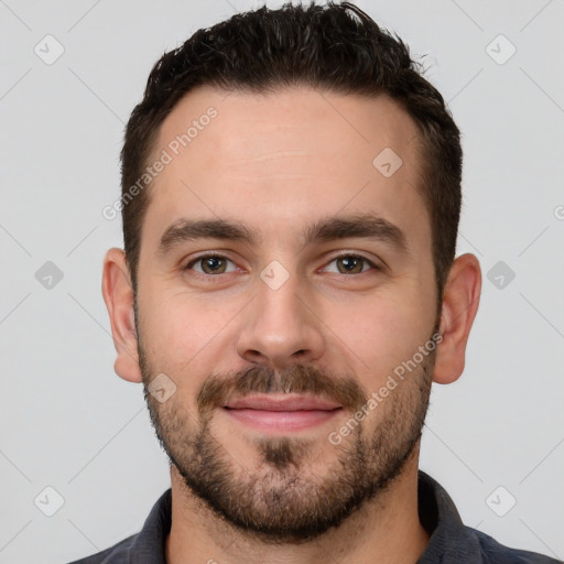
[[[220,217],[275,238],[316,217],[372,210],[429,238],[419,139],[383,96],[197,88],[161,126],[153,155],[167,164],[143,231],[154,239],[181,217]]]

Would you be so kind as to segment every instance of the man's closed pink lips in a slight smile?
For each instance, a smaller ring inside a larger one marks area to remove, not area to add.
[[[343,411],[341,405],[332,401],[288,393],[240,398],[221,409],[232,421],[263,432],[311,429]]]

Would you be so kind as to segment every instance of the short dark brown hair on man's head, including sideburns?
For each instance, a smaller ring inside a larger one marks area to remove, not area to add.
[[[198,30],[165,53],[131,113],[121,151],[123,241],[133,292],[150,193],[142,189],[129,202],[126,195],[148,166],[160,126],[175,105],[197,86],[265,93],[301,85],[338,94],[388,95],[415,121],[423,148],[419,189],[431,216],[441,303],[456,250],[463,153],[443,97],[422,74],[398,35],[349,2],[262,7]]]

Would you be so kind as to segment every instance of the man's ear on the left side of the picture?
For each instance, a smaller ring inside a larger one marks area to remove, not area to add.
[[[133,313],[133,286],[121,249],[109,249],[104,259],[101,292],[111,323],[113,346],[118,352],[113,369],[129,382],[142,382]]]

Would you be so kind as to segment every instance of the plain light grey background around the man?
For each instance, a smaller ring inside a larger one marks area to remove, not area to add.
[[[468,525],[563,558],[564,1],[357,3],[426,55],[449,104],[465,150],[458,252],[484,272],[465,373],[434,386],[421,468]],[[100,280],[121,225],[101,209],[119,197],[123,123],[152,64],[256,6],[0,0],[0,563],[105,549],[170,485],[141,384],[113,372]],[[47,261],[63,273],[51,289]],[[52,517],[46,487],[64,500]]]

